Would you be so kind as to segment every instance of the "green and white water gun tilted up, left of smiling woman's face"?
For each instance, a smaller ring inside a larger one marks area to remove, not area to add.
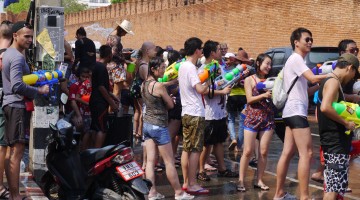
[[[223,75],[220,75],[215,78],[214,87],[216,90],[222,90],[223,88],[233,85],[234,83],[238,82],[239,79],[242,77],[243,72],[247,69],[246,64],[237,65],[234,69],[230,72],[227,72]]]

